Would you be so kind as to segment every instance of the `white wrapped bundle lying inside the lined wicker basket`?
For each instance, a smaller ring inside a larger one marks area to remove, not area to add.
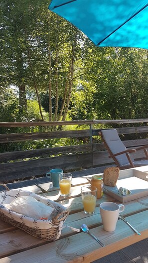
[[[19,214],[35,219],[52,219],[57,215],[57,210],[38,202],[32,196],[20,196],[9,204],[9,209]]]

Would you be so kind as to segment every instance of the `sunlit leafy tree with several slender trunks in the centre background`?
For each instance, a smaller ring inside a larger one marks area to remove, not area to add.
[[[54,120],[65,120],[71,101],[71,91],[75,85],[78,59],[81,59],[83,34],[78,29],[56,14],[44,10],[42,27],[38,34],[42,39],[41,45],[46,53],[42,53],[42,65],[44,67],[44,92],[48,87],[49,94],[49,121],[54,114]],[[76,72],[76,74],[75,74]],[[79,77],[79,75],[78,75]],[[55,98],[55,100],[53,100]],[[63,98],[58,116],[58,104]],[[55,105],[52,103],[55,102]],[[53,112],[53,108],[55,109]]]

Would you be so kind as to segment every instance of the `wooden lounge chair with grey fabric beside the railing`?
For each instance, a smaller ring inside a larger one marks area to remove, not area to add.
[[[148,148],[148,145],[141,146],[136,149],[127,149],[120,139],[117,130],[115,129],[102,130],[101,132],[99,132],[99,135],[101,135],[104,145],[110,153],[109,157],[113,158],[116,165],[120,167],[120,169],[148,165],[148,151],[146,149]],[[144,149],[146,155],[145,159],[135,161],[130,153],[142,149]]]

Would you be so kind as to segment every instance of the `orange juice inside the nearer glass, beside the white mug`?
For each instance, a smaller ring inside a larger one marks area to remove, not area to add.
[[[86,194],[84,195],[82,201],[83,201],[84,211],[88,213],[93,213],[95,211],[96,196],[92,194]]]

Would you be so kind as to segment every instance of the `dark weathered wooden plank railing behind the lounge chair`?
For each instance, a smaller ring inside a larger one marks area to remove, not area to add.
[[[148,144],[148,119],[139,120],[95,120],[95,121],[70,121],[70,122],[27,122],[27,123],[0,123],[0,128],[16,127],[53,127],[49,132],[23,132],[23,133],[1,133],[0,143],[12,143],[29,140],[53,139],[53,138],[87,138],[87,142],[79,145],[68,145],[61,147],[40,148],[31,150],[20,150],[0,153],[0,182],[7,182],[14,179],[22,179],[31,176],[43,175],[52,168],[63,168],[64,171],[78,170],[90,167],[97,167],[113,163],[108,158],[108,151],[100,141],[94,143],[94,136],[98,132],[110,125],[118,131],[119,134],[146,133],[144,139],[124,140],[127,148],[134,148]],[[124,125],[137,124],[133,127]],[[61,131],[57,127],[76,125],[87,126],[86,130]],[[98,125],[99,129],[95,129]],[[101,127],[101,125],[103,125]],[[107,125],[107,126],[106,126]],[[99,137],[98,137],[99,138]],[[101,139],[101,138],[100,138]],[[58,155],[58,156],[56,156]],[[144,153],[137,152],[134,155],[136,159],[142,159]],[[20,161],[21,160],[21,161]]]

